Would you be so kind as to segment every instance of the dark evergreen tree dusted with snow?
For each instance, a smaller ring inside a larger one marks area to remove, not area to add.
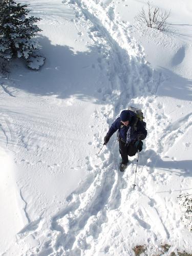
[[[23,57],[29,63],[31,57],[41,58],[34,55],[37,42],[33,40],[37,32],[41,31],[35,25],[40,18],[28,16],[30,11],[27,7],[13,0],[0,2],[0,57],[8,61],[12,57]]]

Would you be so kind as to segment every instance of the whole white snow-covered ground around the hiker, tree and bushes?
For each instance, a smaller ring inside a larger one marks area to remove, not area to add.
[[[192,253],[178,204],[192,193],[191,1],[153,1],[172,9],[165,32],[135,22],[147,1],[19,2],[42,18],[46,61],[0,77],[0,254]],[[116,135],[98,155],[129,105],[148,131],[135,190],[137,156],[120,173]]]

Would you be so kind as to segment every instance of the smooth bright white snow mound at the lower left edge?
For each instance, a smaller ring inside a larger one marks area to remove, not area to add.
[[[1,127],[1,126],[0,126]],[[15,240],[15,233],[24,225],[24,218],[20,214],[20,201],[17,193],[17,185],[15,184],[15,164],[12,155],[7,153],[4,148],[0,147],[0,205],[3,210],[0,212],[1,228],[0,228],[0,254],[10,245],[10,241]],[[22,204],[20,204],[21,207]],[[4,238],[7,238],[5,240]]]

